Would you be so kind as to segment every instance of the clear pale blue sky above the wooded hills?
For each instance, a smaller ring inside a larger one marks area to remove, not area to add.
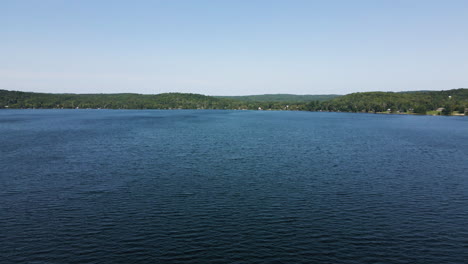
[[[346,94],[468,87],[468,1],[0,1],[0,89]]]

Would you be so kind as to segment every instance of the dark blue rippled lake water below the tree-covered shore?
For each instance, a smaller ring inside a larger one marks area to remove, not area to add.
[[[1,263],[467,263],[468,118],[0,111]]]

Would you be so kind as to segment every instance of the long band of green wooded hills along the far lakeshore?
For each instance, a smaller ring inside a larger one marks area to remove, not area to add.
[[[329,96],[330,99],[325,100]],[[464,113],[468,89],[365,92],[344,96],[260,95],[213,97],[200,94],[48,94],[0,90],[0,108],[249,109],[426,114]],[[258,100],[254,100],[257,98]],[[302,101],[305,98],[314,100]],[[268,100],[269,101],[268,101]],[[282,99],[282,100],[280,100]],[[438,111],[437,111],[438,110]]]

